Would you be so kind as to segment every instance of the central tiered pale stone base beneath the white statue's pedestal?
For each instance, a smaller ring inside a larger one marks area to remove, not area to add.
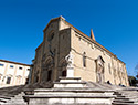
[[[61,77],[53,88],[34,90],[26,95],[29,105],[110,105],[116,97],[112,90],[88,87],[79,77]]]

